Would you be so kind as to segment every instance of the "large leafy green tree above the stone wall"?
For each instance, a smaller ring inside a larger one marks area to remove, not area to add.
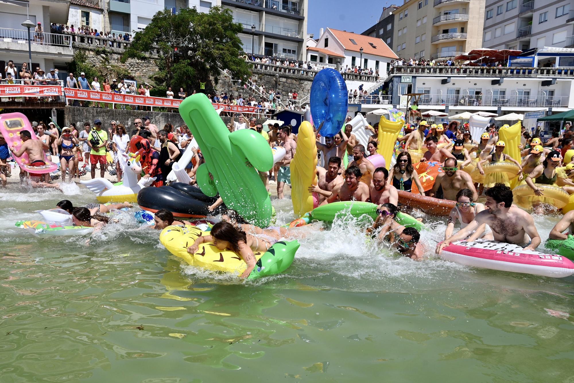
[[[177,14],[159,11],[144,30],[135,33],[122,62],[127,58],[152,60],[147,52],[158,52],[156,85],[172,87],[174,92],[182,87],[189,93],[210,78],[217,83],[219,68],[227,69],[236,79],[246,80],[251,71],[239,57],[243,49],[237,35],[242,30],[242,25],[233,21],[231,11],[222,7],[211,7],[209,13],[195,7]]]

